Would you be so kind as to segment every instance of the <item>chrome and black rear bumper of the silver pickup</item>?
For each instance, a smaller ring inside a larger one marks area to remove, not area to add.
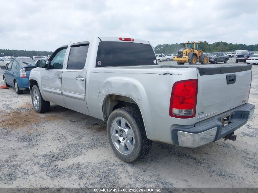
[[[210,119],[196,123],[192,128],[175,128],[172,130],[173,144],[195,148],[217,141],[242,127],[254,113],[255,106],[245,104],[231,109]],[[230,123],[223,126],[221,118],[230,115]]]

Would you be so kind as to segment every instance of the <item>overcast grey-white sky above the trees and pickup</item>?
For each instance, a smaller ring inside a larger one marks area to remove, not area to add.
[[[248,3],[247,3],[248,2]],[[0,49],[54,51],[94,36],[258,44],[258,1],[0,0]]]

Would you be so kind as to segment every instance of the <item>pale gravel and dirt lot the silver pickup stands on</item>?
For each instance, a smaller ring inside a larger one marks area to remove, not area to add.
[[[257,95],[253,66],[249,103],[256,107]],[[14,88],[0,97],[0,187],[258,187],[257,110],[235,142],[154,142],[144,159],[125,163],[112,152],[103,121],[52,103],[48,113],[35,113],[30,93]]]

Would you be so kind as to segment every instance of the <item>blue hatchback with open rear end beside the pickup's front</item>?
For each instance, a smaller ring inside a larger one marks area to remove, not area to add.
[[[5,69],[3,78],[7,87],[14,87],[18,95],[29,88],[29,77],[31,70],[36,68],[33,59],[13,59]]]

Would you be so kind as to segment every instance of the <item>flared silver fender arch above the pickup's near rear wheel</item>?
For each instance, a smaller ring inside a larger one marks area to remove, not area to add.
[[[103,104],[108,95],[121,95],[132,98],[138,105],[143,117],[145,131],[148,137],[149,123],[147,115],[151,113],[146,91],[140,81],[129,77],[110,77],[102,84],[100,91],[100,111],[103,112]],[[150,138],[149,138],[150,139]]]

